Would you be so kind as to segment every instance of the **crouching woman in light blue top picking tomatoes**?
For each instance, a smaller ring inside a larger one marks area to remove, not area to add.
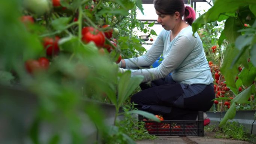
[[[202,41],[197,33],[192,35],[195,11],[185,6],[183,0],[153,3],[157,22],[164,30],[145,55],[122,59],[119,71],[129,69],[132,76],[144,76],[142,91],[131,97],[138,109],[161,114],[165,119],[195,120],[198,111],[208,111],[214,99],[213,77]],[[158,67],[132,70],[150,66],[161,54],[164,59]],[[150,81],[147,86],[145,82]]]

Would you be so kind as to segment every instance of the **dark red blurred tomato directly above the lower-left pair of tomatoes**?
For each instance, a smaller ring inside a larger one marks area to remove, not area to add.
[[[43,46],[46,49],[46,55],[52,56],[57,55],[60,52],[60,48],[58,46],[59,37],[55,37],[55,39],[51,37],[45,37],[43,39]]]

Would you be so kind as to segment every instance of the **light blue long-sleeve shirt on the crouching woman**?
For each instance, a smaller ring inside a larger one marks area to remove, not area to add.
[[[192,27],[183,28],[170,42],[170,31],[162,30],[146,54],[137,58],[124,59],[126,69],[133,75],[143,75],[143,82],[161,79],[172,74],[173,80],[184,84],[205,84],[213,82],[202,41],[197,33],[193,37]],[[148,67],[163,56],[162,63],[156,68],[132,70]]]

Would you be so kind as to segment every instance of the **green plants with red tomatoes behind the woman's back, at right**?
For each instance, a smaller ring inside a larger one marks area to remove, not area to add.
[[[214,6],[204,15],[199,16],[192,24],[195,32],[205,24],[207,26],[216,25],[220,21],[225,23],[223,30],[220,31],[220,36],[216,37],[218,45],[215,48],[213,44],[209,49],[212,52],[206,53],[207,56],[213,56],[212,59],[216,60],[214,62],[215,65],[210,67],[212,71],[215,71],[214,83],[216,87],[214,88],[216,88],[217,94],[219,94],[219,91],[221,93],[223,90],[230,89],[225,94],[221,94],[221,98],[218,98],[216,94],[216,100],[222,101],[220,102],[221,107],[228,108],[227,114],[220,122],[220,127],[228,119],[234,118],[231,113],[235,113],[236,108],[241,104],[247,104],[248,98],[255,94],[256,77],[255,74],[249,73],[249,71],[256,71],[256,62],[248,61],[249,58],[255,57],[255,53],[253,53],[255,42],[247,37],[249,35],[255,36],[253,31],[256,28],[256,13],[252,8],[255,3],[245,3],[242,0],[237,0],[239,4],[233,5],[229,3],[231,0],[226,2],[226,4],[223,4],[222,1],[215,1]],[[229,9],[223,9],[223,7],[232,7],[233,10],[228,11]],[[226,15],[227,13],[229,14]],[[253,13],[250,18],[247,17],[250,15],[249,13]],[[221,17],[224,15],[226,16],[222,19]],[[248,26],[247,24],[253,26],[246,27]],[[230,28],[231,25],[234,26],[232,29]],[[234,99],[229,99],[231,95]],[[229,102],[229,100],[231,101]],[[222,103],[224,103],[225,107],[223,107]]]

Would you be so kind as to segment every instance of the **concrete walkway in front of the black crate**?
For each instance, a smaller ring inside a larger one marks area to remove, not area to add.
[[[214,138],[214,133],[204,132],[204,137],[157,136],[155,140],[136,141],[136,144],[252,144],[247,141]]]

